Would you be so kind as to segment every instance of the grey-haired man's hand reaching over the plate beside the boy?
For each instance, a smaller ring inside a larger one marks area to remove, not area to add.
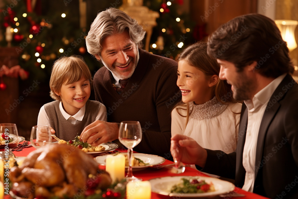
[[[98,146],[118,139],[118,132],[117,123],[97,120],[85,127],[80,137],[83,142],[88,142],[91,146]]]

